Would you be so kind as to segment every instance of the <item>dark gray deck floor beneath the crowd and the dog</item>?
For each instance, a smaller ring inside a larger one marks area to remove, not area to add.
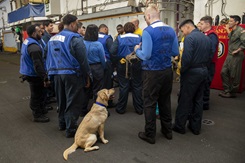
[[[19,55],[0,53],[0,162],[1,163],[62,163],[63,151],[73,139],[58,131],[55,110],[47,115],[51,121],[34,123],[29,109],[29,87],[20,83]],[[178,83],[172,92],[173,117],[177,106]],[[117,91],[118,93],[118,91]],[[218,97],[211,90],[211,110],[203,118],[215,122],[203,125],[199,136],[189,130],[185,135],[174,133],[169,141],[160,133],[157,123],[156,144],[150,145],[137,136],[144,129],[144,116],[137,115],[129,97],[126,114],[110,109],[105,137],[108,144],[98,141],[98,151],[82,149],[69,156],[73,163],[245,163],[245,93],[234,99]],[[55,106],[55,104],[53,104]],[[81,118],[80,118],[81,121]]]

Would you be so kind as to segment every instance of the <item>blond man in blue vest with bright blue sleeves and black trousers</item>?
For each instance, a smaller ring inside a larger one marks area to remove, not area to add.
[[[148,25],[142,35],[142,46],[136,45],[136,55],[143,60],[143,101],[145,132],[139,132],[140,139],[155,143],[156,104],[158,102],[161,132],[172,139],[171,99],[173,71],[171,57],[179,54],[178,39],[170,26],[160,21],[155,4],[145,10]]]

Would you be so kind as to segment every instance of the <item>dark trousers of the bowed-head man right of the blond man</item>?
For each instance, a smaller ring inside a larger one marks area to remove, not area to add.
[[[192,68],[181,74],[180,94],[175,115],[175,127],[185,131],[189,125],[194,131],[201,130],[203,113],[203,90],[208,70],[206,67]]]

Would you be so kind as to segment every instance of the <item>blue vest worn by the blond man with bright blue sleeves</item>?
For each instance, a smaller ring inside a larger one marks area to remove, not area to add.
[[[143,70],[164,70],[172,66],[172,46],[176,34],[163,22],[157,21],[145,29],[152,39],[152,54],[149,60],[142,62]]]

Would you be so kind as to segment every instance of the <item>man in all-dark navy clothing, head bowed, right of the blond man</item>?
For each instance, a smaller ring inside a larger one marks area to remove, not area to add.
[[[212,54],[212,42],[200,32],[191,19],[179,25],[185,36],[180,69],[180,93],[173,131],[184,134],[185,125],[193,134],[200,134],[203,113],[203,92],[208,77],[207,65]]]

